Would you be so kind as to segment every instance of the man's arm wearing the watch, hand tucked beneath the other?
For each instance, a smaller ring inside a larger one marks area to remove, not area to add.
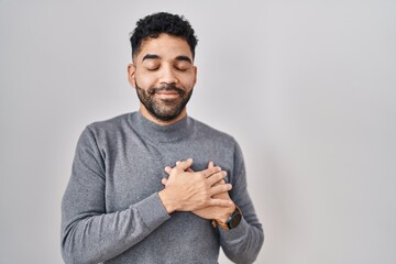
[[[208,168],[210,167],[213,167],[211,162],[208,165]],[[172,167],[165,167],[165,172],[168,174],[173,169]],[[187,169],[191,172],[190,168]],[[264,242],[264,232],[248,194],[244,162],[238,143],[235,143],[233,175],[230,178],[233,186],[232,190],[213,196],[216,199],[233,201],[229,207],[211,206],[194,210],[193,212],[208,220],[216,219],[226,222],[228,217],[234,211],[235,206],[238,206],[243,216],[239,226],[231,230],[223,229],[219,224],[217,224],[217,228],[220,232],[220,244],[226,255],[234,263],[249,264],[253,263],[258,255]],[[167,185],[166,179],[163,179],[162,183]],[[218,184],[223,184],[223,179],[220,179]]]

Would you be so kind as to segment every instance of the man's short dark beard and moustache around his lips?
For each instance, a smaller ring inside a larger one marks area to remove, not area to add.
[[[165,85],[160,88],[150,88],[144,90],[136,84],[136,94],[141,103],[147,109],[150,114],[161,121],[175,120],[189,101],[193,89],[186,92],[175,85]],[[176,99],[161,99],[155,95],[160,91],[175,91],[179,95]]]

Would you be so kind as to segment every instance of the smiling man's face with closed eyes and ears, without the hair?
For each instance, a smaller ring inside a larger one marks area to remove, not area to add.
[[[148,113],[156,121],[169,122],[186,114],[197,68],[185,40],[168,34],[144,40],[128,72],[143,116]]]

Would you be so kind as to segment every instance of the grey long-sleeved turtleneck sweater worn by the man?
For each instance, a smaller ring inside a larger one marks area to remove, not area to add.
[[[194,158],[227,170],[231,199],[243,219],[215,229],[191,212],[166,212],[158,198],[165,166]],[[189,117],[157,125],[140,112],[88,125],[76,150],[62,202],[66,263],[217,263],[219,248],[235,263],[252,263],[264,234],[246,190],[241,150],[233,138]]]

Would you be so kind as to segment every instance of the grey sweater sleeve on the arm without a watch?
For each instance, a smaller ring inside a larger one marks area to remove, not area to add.
[[[92,131],[77,144],[72,176],[62,201],[65,263],[99,263],[139,243],[169,219],[157,194],[122,211],[106,211],[106,166]]]

